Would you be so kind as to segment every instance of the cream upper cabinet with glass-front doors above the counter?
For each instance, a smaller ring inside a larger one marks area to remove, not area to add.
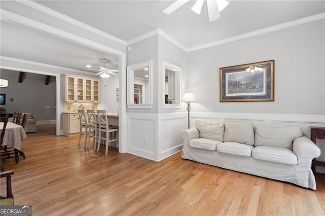
[[[100,80],[66,75],[63,83],[64,102],[100,102]]]

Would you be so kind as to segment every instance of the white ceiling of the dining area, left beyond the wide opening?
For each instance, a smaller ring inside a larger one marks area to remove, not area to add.
[[[1,21],[0,25],[2,56],[77,70],[85,69],[86,64],[92,65],[91,69],[99,69],[99,65],[104,65],[99,59],[106,58],[111,61],[107,64],[108,68],[118,69],[116,56],[4,21]]]

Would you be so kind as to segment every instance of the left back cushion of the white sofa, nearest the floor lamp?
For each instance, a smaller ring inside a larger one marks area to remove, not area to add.
[[[200,131],[200,138],[223,141],[223,123],[219,121],[197,120],[195,127]]]

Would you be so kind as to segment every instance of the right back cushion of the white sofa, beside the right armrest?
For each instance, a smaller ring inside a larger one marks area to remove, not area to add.
[[[299,126],[256,125],[254,146],[270,146],[293,150],[294,139],[302,135]]]

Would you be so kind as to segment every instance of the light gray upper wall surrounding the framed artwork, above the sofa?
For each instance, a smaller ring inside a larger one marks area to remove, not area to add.
[[[325,114],[324,19],[189,53],[192,112]],[[274,101],[219,102],[219,68],[275,60]]]

